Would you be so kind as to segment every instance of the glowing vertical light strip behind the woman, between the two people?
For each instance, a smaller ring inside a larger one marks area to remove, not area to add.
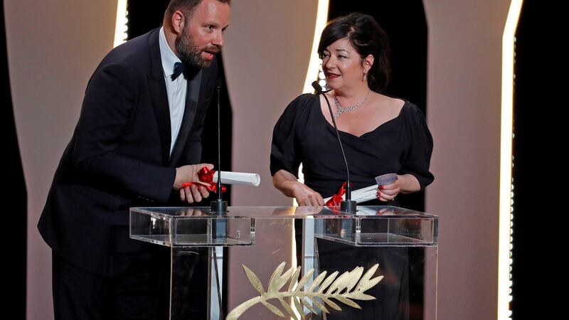
[[[318,43],[320,42],[320,34],[328,21],[328,4],[329,0],[318,0],[318,9],[316,15],[316,24],[314,25],[314,39],[312,40],[312,50],[310,50],[310,62],[308,63],[307,78],[304,80],[302,92],[312,92],[312,82],[318,79],[320,70],[320,57],[318,56]],[[302,174],[302,164],[298,169],[298,181],[304,183],[304,174]],[[293,206],[298,206],[297,199],[292,200]]]

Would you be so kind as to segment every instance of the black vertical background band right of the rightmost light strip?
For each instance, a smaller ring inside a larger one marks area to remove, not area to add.
[[[567,102],[566,57],[555,57],[565,37],[558,26],[551,1],[523,1],[516,29],[514,63],[514,139],[512,219],[512,319],[559,319],[563,306],[556,304],[564,265],[565,215],[563,201],[566,184],[564,154],[567,145],[563,128],[565,117],[558,117]],[[559,14],[558,14],[559,15]],[[566,27],[565,27],[566,29]],[[566,68],[565,68],[566,69]],[[558,98],[559,96],[560,99]],[[563,110],[565,111],[565,110]],[[559,175],[559,176],[558,176]],[[566,196],[565,196],[566,197]],[[546,253],[548,252],[548,253]],[[561,253],[561,255],[559,255]],[[550,273],[552,272],[552,273]],[[544,307],[551,306],[551,307]]]

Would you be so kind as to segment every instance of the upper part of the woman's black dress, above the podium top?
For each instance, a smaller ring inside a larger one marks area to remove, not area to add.
[[[432,137],[425,116],[413,103],[405,101],[398,117],[361,137],[347,132],[340,132],[340,137],[352,190],[376,184],[381,174],[413,174],[421,190],[434,179],[429,171]],[[319,97],[311,94],[288,105],[272,134],[271,174],[282,169],[298,176],[301,163],[304,183],[323,198],[334,195],[346,181],[334,127],[324,118]]]

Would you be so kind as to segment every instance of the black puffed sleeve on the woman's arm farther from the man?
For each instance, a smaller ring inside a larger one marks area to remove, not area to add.
[[[410,144],[400,173],[413,174],[423,190],[435,180],[435,176],[429,171],[432,136],[421,110],[415,105],[410,105],[408,109],[408,112],[405,112],[405,126]]]

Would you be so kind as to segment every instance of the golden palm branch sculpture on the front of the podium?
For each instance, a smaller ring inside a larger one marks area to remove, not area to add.
[[[243,270],[251,282],[252,286],[259,292],[260,296],[249,299],[246,302],[238,305],[233,309],[225,320],[235,320],[238,319],[247,309],[251,306],[261,303],[266,306],[267,309],[272,311],[272,313],[277,314],[277,316],[282,316],[285,318],[285,314],[278,309],[274,304],[270,304],[268,300],[277,299],[282,306],[282,309],[292,317],[292,319],[299,320],[304,319],[305,316],[309,314],[304,314],[302,311],[303,306],[312,311],[314,314],[318,314],[318,311],[314,309],[316,306],[318,309],[324,313],[329,313],[326,308],[326,304],[332,309],[341,311],[338,304],[333,302],[331,299],[336,299],[339,302],[347,304],[348,306],[353,306],[354,308],[361,309],[361,307],[353,302],[353,300],[373,300],[376,299],[368,294],[364,294],[366,290],[371,289],[378,282],[383,279],[383,276],[378,276],[375,278],[373,274],[376,273],[379,265],[373,265],[366,274],[363,274],[363,267],[355,267],[350,272],[344,272],[338,277],[339,272],[334,272],[326,277],[326,271],[321,272],[314,279],[312,284],[308,289],[303,290],[305,285],[309,282],[314,274],[314,269],[309,270],[304,277],[297,282],[301,267],[290,267],[285,273],[285,262],[282,262],[275,272],[272,273],[271,279],[269,280],[269,286],[267,291],[262,286],[261,281],[257,275],[252,272],[248,267],[243,265]],[[363,274],[363,277],[361,276]],[[286,291],[280,291],[285,284],[289,284]],[[285,298],[292,298],[292,304],[285,301]],[[321,302],[320,302],[321,301]],[[312,302],[312,303],[311,303]],[[312,306],[314,304],[314,306]],[[293,309],[296,309],[294,310]],[[297,312],[295,312],[297,311]]]

